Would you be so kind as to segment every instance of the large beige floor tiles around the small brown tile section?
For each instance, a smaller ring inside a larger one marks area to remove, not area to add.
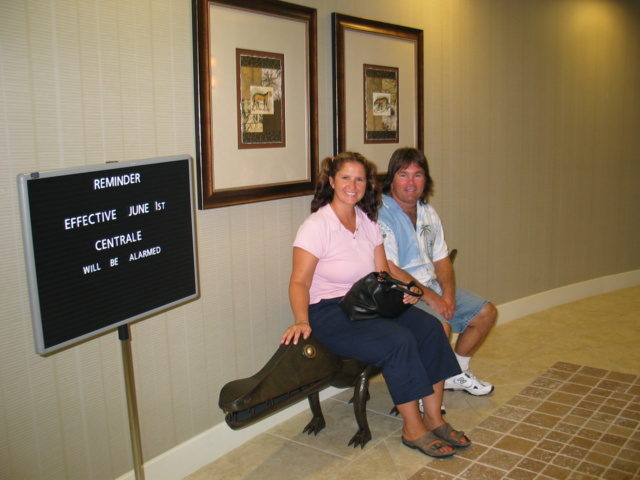
[[[513,406],[510,401],[515,395],[557,362],[638,375],[638,345],[640,286],[597,295],[499,325],[472,362],[474,372],[493,383],[496,390],[487,397],[446,392],[446,419],[456,428],[467,432],[475,429],[482,435],[484,427],[480,424],[483,421]],[[450,470],[458,460],[475,461],[478,458],[471,453],[481,450],[474,450],[475,445],[466,457],[459,454],[456,457],[460,458],[445,460],[430,459],[404,447],[400,442],[402,422],[389,414],[392,403],[380,377],[371,382],[370,391],[367,410],[373,439],[364,449],[347,446],[356,424],[353,408],[348,404],[351,392],[345,390],[322,402],[327,426],[317,436],[302,433],[311,418],[310,413],[303,412],[185,480],[444,480],[455,478]],[[640,452],[636,453],[640,455]],[[483,468],[473,471],[474,476],[468,477],[470,480],[492,478]],[[559,470],[550,472],[553,472],[552,476],[539,478],[598,478],[581,477],[577,472],[562,473],[564,476]],[[640,478],[640,475],[636,472],[620,478]]]

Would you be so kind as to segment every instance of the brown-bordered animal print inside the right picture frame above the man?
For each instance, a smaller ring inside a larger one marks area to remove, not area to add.
[[[398,69],[364,65],[364,143],[398,143]]]

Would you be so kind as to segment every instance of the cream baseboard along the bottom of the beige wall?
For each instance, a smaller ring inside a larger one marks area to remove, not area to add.
[[[636,285],[640,285],[640,270],[596,278],[531,295],[498,305],[498,325],[564,303]],[[320,398],[324,400],[341,391],[330,387],[320,392]],[[216,425],[146,462],[144,465],[145,478],[148,480],[180,480],[258,434],[288,420],[293,415],[308,410],[308,408],[308,403],[302,401],[242,430],[231,430],[225,423]],[[132,470],[117,480],[135,480],[135,474]]]

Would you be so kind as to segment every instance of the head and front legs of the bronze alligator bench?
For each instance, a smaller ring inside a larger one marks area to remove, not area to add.
[[[348,445],[364,448],[371,440],[366,410],[369,380],[379,373],[378,367],[334,355],[311,335],[297,345],[281,345],[252,377],[227,383],[220,391],[218,405],[227,425],[236,430],[307,398],[313,418],[303,433],[317,435],[325,427],[319,392],[328,386],[353,387],[358,430]]]

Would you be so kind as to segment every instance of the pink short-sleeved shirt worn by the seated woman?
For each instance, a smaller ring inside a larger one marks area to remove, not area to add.
[[[373,251],[381,244],[378,224],[359,208],[355,233],[340,223],[331,205],[309,215],[293,242],[318,258],[309,303],[344,296],[357,280],[375,270]]]

